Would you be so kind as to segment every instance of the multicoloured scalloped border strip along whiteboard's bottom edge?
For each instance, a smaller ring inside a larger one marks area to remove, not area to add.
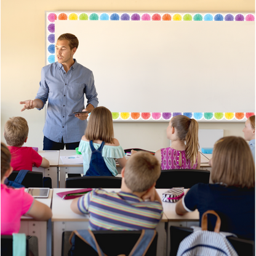
[[[168,121],[174,116],[183,115],[188,116],[188,118],[194,118],[198,121],[245,121],[250,116],[256,115],[256,113],[182,113],[182,112],[164,112],[164,113],[140,113],[140,112],[112,112],[113,120],[150,120],[150,121]]]

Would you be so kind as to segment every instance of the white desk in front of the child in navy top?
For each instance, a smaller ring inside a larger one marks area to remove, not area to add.
[[[162,193],[166,192],[168,189],[158,188],[158,194],[162,198]],[[164,214],[168,219],[167,223],[167,254],[170,255],[170,226],[199,226],[199,212],[194,210],[194,212],[188,212],[185,215],[178,215],[175,212],[175,206],[177,202],[162,202],[164,208]]]

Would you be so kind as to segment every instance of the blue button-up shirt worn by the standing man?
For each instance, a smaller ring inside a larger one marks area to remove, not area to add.
[[[44,136],[54,142],[79,142],[87,127],[87,120],[82,121],[68,116],[84,107],[84,94],[87,105],[98,106],[94,75],[88,68],[74,59],[74,64],[66,73],[61,63],[54,62],[44,66],[36,98],[45,103],[48,100]],[[42,106],[43,108],[44,106]],[[42,109],[41,108],[41,109]],[[40,109],[40,110],[41,110]]]

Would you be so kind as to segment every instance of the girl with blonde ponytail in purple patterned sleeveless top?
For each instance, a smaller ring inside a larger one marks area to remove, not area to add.
[[[187,116],[174,116],[166,129],[172,142],[169,148],[156,151],[162,170],[200,169],[198,122]]]

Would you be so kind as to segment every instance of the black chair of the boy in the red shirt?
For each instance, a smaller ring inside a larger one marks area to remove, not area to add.
[[[8,179],[13,181],[17,175],[18,171],[14,170]],[[42,172],[28,172],[23,179],[22,185],[25,188],[42,188]]]

